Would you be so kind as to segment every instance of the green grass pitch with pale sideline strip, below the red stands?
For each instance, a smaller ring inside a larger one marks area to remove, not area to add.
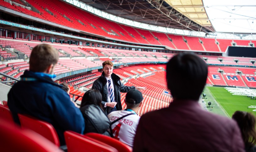
[[[206,97],[202,104],[208,106],[208,102],[211,102],[207,109],[212,113],[232,117],[235,111],[240,110],[251,112],[256,116],[256,111],[253,111],[256,108],[248,108],[249,106],[256,106],[255,99],[232,95],[224,87],[206,86],[203,93],[206,94]]]

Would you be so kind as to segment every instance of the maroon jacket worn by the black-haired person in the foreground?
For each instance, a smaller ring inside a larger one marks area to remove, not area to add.
[[[143,115],[133,145],[134,152],[244,151],[237,123],[201,109],[195,101],[174,101]]]

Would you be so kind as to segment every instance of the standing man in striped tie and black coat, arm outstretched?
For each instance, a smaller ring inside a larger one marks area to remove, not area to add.
[[[92,89],[98,90],[102,94],[102,106],[107,114],[112,111],[122,110],[121,93],[131,89],[139,91],[146,90],[146,87],[124,86],[120,77],[113,73],[113,63],[109,60],[102,63],[103,72],[101,76],[93,82]]]

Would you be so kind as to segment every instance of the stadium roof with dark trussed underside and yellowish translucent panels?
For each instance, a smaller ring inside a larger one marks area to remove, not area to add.
[[[166,28],[215,32],[202,0],[79,0],[101,11]]]

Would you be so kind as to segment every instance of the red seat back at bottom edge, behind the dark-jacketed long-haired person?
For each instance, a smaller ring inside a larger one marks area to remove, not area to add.
[[[117,152],[117,149],[112,146],[73,131],[65,131],[64,137],[68,152]]]

